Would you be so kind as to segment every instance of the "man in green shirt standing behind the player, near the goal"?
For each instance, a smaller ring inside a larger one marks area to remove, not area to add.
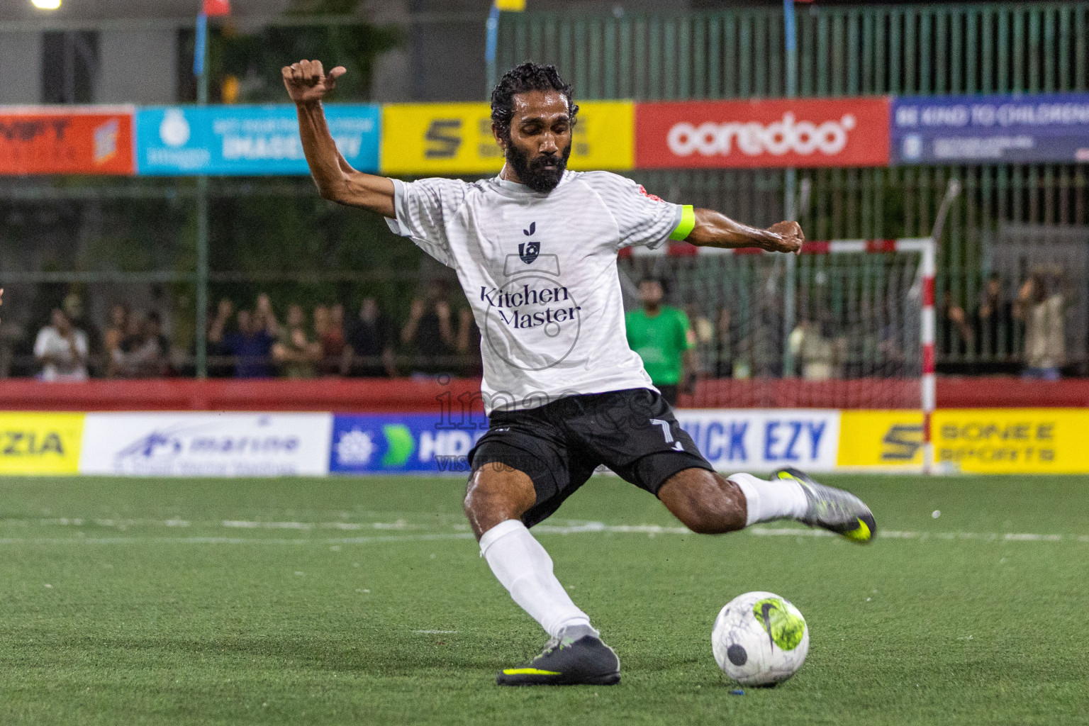
[[[676,406],[677,387],[684,380],[685,368],[695,372],[693,348],[695,335],[684,310],[662,305],[665,285],[662,280],[647,278],[639,283],[643,309],[625,316],[627,344],[643,358],[650,380],[671,406]]]

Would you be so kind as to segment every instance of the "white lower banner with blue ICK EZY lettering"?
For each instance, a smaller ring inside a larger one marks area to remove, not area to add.
[[[719,470],[770,471],[795,466],[830,471],[836,465],[837,410],[687,409],[677,410],[676,417]]]

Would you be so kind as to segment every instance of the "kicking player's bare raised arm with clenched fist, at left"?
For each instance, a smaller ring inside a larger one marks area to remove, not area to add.
[[[326,75],[321,61],[299,61],[282,69],[283,85],[298,112],[306,163],[322,198],[395,219],[393,182],[352,169],[329,133],[321,99],[337,87],[337,78],[344,73],[344,67],[338,65]]]

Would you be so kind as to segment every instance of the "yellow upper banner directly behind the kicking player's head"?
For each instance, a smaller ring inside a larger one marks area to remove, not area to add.
[[[635,104],[579,104],[568,165],[625,171],[635,165]],[[383,174],[487,174],[503,168],[487,103],[391,103],[382,107]]]

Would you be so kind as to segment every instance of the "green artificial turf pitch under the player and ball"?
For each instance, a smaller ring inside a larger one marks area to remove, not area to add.
[[[825,481],[893,536],[681,533],[595,479],[537,531],[623,680],[502,689],[546,636],[478,557],[458,480],[0,480],[0,723],[1089,719],[1089,480]],[[710,630],[748,590],[811,640],[792,680],[739,697]]]

